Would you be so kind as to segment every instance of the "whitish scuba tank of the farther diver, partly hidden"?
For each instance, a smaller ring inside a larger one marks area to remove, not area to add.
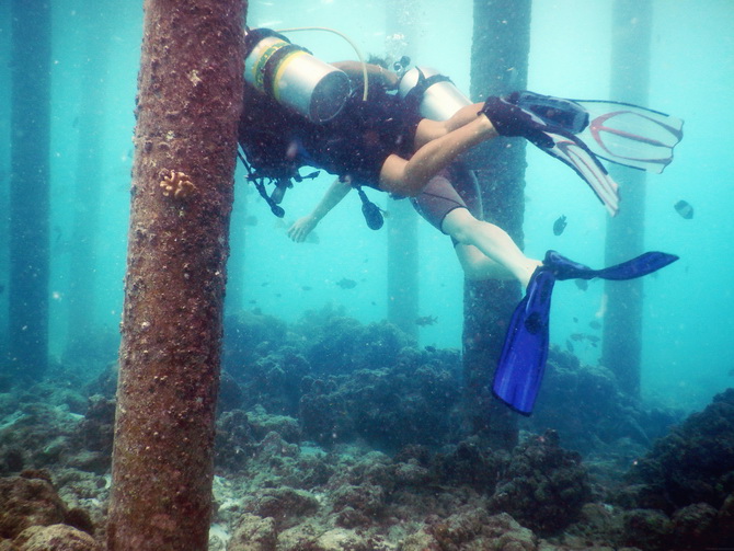
[[[414,67],[400,79],[400,96],[411,95],[420,101],[421,116],[432,120],[446,120],[471,101],[454,83],[431,67]]]

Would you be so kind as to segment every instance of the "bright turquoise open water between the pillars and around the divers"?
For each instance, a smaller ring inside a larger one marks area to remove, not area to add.
[[[537,1],[532,12],[528,88],[570,97],[609,97],[611,56],[610,4],[606,1]],[[79,161],[80,133],[92,128],[99,138],[101,192],[99,219],[89,219],[94,236],[96,305],[89,315],[100,334],[116,335],[123,300],[129,171],[136,77],[142,10],[140,2],[99,2],[93,13],[84,2],[54,3],[51,99],[51,283],[50,352],[67,351],[69,271],[73,259],[74,220],[80,211],[76,181],[84,177]],[[686,120],[685,139],[675,162],[647,177],[647,249],[677,253],[680,262],[645,280],[643,392],[665,403],[699,409],[732,386],[734,332],[732,257],[734,257],[734,4],[727,0],[660,0],[654,2],[650,106]],[[383,2],[322,0],[250,4],[249,24],[275,28],[320,25],[348,35],[364,53],[393,53],[399,37],[388,36]],[[416,3],[413,15],[417,62],[449,74],[469,90],[472,2]],[[9,5],[0,5],[0,206],[7,211],[9,172]],[[353,59],[351,46],[326,33],[294,34],[324,60]],[[87,74],[87,77],[84,77]],[[103,106],[94,124],[88,117],[84,88],[100,87]],[[369,230],[356,195],[349,196],[316,230],[318,243],[291,243],[287,222],[306,214],[331,177],[297,184],[284,202],[286,222],[269,214],[254,190],[238,174],[232,219],[232,257],[244,256],[242,276],[231,275],[228,308],[260,308],[286,321],[309,309],[343,307],[362,322],[387,314],[387,232]],[[623,182],[622,182],[623,185]],[[368,191],[369,193],[369,191]],[[541,256],[549,248],[600,266],[607,214],[583,182],[540,152],[528,149],[526,250]],[[389,199],[371,193],[390,209]],[[695,207],[691,220],[673,205]],[[623,207],[622,207],[623,208]],[[555,237],[553,221],[565,215],[569,226]],[[2,227],[0,284],[7,286],[7,233]],[[244,243],[244,244],[242,244]],[[437,323],[420,328],[423,345],[460,347],[462,274],[449,239],[420,222],[421,315]],[[352,289],[336,285],[357,283]],[[569,283],[557,287],[552,341],[564,346],[572,333],[593,333],[603,286],[586,291]],[[7,306],[5,292],[0,307]],[[574,321],[577,319],[578,321]],[[4,325],[4,322],[3,322]],[[114,336],[113,336],[114,337]],[[596,364],[600,348],[575,346],[580,357]],[[114,358],[113,358],[114,359]]]

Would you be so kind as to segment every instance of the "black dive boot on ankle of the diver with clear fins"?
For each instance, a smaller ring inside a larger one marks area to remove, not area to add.
[[[549,129],[548,125],[518,107],[519,96],[519,92],[513,92],[505,97],[492,95],[486,99],[479,113],[486,115],[500,136],[519,136],[540,148],[552,148],[553,139],[544,133]]]

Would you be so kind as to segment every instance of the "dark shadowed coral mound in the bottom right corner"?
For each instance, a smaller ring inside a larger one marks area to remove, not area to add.
[[[635,508],[628,521],[635,543],[734,547],[734,389],[655,441],[627,480],[617,502]]]

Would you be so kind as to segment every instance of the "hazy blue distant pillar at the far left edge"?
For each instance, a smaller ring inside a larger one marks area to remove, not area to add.
[[[28,381],[48,367],[51,16],[48,0],[12,0],[10,370]]]

